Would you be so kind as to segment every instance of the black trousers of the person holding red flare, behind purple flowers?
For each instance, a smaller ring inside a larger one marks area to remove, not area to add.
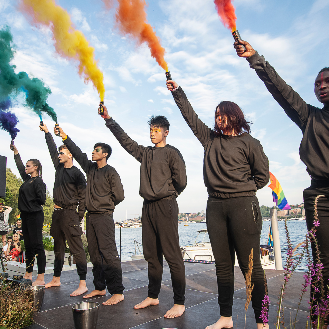
[[[316,181],[312,179],[311,186],[304,190],[304,206],[305,206],[305,219],[307,229],[313,227],[314,220],[314,201],[317,195],[325,195],[320,197],[317,201],[317,215],[320,226],[316,231],[316,240],[320,250],[320,260],[323,264],[322,276],[324,280],[324,287],[326,288],[325,295],[328,292],[327,285],[329,285],[329,182]],[[322,186],[321,186],[322,185]],[[316,262],[315,248],[312,244],[313,261]],[[318,287],[319,288],[319,287]],[[311,296],[314,294],[314,289],[311,287]],[[314,298],[319,300],[320,293],[315,293]],[[314,301],[316,304],[316,300]],[[313,318],[316,320],[317,316]],[[326,319],[326,324],[329,323],[329,316]]]

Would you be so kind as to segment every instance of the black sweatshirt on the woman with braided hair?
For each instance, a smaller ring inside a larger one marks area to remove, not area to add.
[[[18,191],[17,208],[26,213],[42,210],[42,206],[46,203],[46,184],[40,176],[31,177],[25,173],[25,165],[19,154],[15,154],[14,159],[24,182]]]

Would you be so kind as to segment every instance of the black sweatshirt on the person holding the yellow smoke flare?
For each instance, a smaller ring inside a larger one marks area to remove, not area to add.
[[[177,148],[169,144],[164,147],[138,145],[113,118],[105,121],[121,146],[140,162],[139,195],[142,198],[147,201],[172,199],[184,191],[185,162]]]

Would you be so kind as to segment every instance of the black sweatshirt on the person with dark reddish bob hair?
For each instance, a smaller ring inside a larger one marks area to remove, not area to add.
[[[247,133],[218,136],[195,114],[181,87],[171,93],[205,150],[203,179],[209,196],[219,199],[253,196],[267,184],[268,159],[259,140]]]

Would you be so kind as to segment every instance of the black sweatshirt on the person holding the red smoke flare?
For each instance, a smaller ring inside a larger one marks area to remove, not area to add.
[[[315,179],[329,179],[329,108],[319,109],[307,104],[257,51],[247,61],[273,98],[301,129],[303,138],[299,156],[309,175]]]

